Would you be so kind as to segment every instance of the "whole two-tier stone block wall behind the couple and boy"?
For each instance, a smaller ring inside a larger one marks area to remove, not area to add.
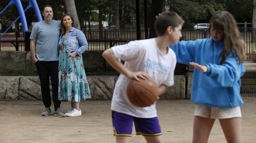
[[[105,62],[102,52],[86,51],[82,54],[91,100],[111,100],[119,75]],[[0,100],[41,100],[40,81],[30,52],[1,51],[0,67]],[[176,75],[174,86],[169,87],[160,99],[190,99],[192,74],[184,75]]]

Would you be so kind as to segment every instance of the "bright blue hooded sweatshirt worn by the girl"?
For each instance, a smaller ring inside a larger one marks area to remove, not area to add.
[[[170,45],[177,56],[177,62],[195,62],[208,68],[206,73],[194,68],[191,101],[195,104],[222,108],[243,104],[240,78],[245,73],[245,67],[243,63],[238,63],[238,57],[234,57],[231,52],[220,65],[222,47],[223,40],[215,42],[212,38]]]

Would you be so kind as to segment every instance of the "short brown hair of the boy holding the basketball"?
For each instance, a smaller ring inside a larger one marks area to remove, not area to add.
[[[167,27],[171,26],[174,30],[175,27],[183,25],[184,20],[175,12],[163,12],[155,20],[155,33],[157,36],[163,36]]]

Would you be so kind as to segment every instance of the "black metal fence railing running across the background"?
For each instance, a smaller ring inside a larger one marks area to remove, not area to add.
[[[256,50],[256,29],[239,29],[241,33],[241,40],[243,42],[244,50],[247,54],[247,60],[252,60],[252,51]],[[116,29],[103,29],[100,30],[85,30],[83,31],[86,39],[88,40],[88,50],[105,50],[113,45],[123,45],[129,41],[136,40],[136,30],[116,30]],[[142,30],[141,39],[145,39],[145,31]],[[16,37],[16,38],[15,38]],[[6,43],[8,38],[0,39],[1,47],[15,46],[17,51],[25,49],[24,32],[16,31],[15,37],[9,38],[9,45]],[[181,40],[196,40],[202,38],[209,38],[209,31],[206,29],[182,29]],[[22,41],[23,40],[23,41]],[[5,43],[4,43],[5,42]]]

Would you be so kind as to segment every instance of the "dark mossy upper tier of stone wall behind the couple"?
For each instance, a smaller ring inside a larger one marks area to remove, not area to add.
[[[86,72],[114,71],[101,56],[103,51],[86,51],[82,54]],[[37,75],[36,65],[28,51],[0,51],[0,75]]]

